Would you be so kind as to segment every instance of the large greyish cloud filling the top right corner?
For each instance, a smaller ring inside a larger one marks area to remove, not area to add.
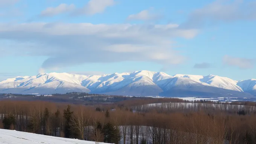
[[[256,1],[216,0],[189,14],[183,27],[201,27],[205,24],[233,22],[239,20],[256,20]]]

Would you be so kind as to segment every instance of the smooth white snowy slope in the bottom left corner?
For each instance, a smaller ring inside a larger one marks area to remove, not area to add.
[[[0,144],[95,144],[95,142],[0,129]],[[98,142],[98,144],[107,143]]]

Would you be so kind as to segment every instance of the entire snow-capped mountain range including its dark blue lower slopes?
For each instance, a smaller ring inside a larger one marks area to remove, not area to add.
[[[163,72],[136,71],[104,75],[38,74],[0,82],[0,93],[40,94],[67,92],[132,96],[200,96],[250,98],[256,96],[256,80],[235,81],[216,75],[170,76]]]

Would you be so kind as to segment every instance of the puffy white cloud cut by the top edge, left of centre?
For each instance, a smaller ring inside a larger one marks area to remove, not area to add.
[[[96,13],[102,13],[109,6],[115,4],[114,0],[90,0],[84,7],[77,9],[75,15],[94,15]]]

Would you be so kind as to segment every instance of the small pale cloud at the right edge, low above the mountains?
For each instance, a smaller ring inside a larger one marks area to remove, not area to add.
[[[229,55],[225,55],[223,57],[223,63],[225,65],[236,66],[240,69],[250,69],[255,65],[254,59],[249,58],[239,58],[239,57],[231,57]]]

